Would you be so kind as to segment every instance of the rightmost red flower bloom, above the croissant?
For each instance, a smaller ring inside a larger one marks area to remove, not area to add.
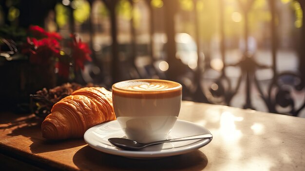
[[[89,49],[88,45],[86,43],[79,41],[76,41],[76,35],[71,35],[71,38],[73,38],[73,43],[71,44],[72,48],[72,58],[75,61],[75,69],[76,71],[81,68],[84,69],[84,62],[85,61],[92,61],[90,54],[91,50]]]

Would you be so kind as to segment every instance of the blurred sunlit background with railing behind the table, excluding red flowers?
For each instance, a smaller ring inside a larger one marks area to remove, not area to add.
[[[110,90],[158,78],[181,83],[184,100],[305,117],[304,8],[304,0],[0,0],[1,108],[66,81]],[[63,49],[75,33],[92,61],[73,78],[31,86],[28,59],[10,43],[30,25],[58,32]]]

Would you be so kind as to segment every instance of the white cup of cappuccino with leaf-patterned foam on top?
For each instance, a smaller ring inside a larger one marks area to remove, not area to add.
[[[181,106],[182,86],[169,80],[136,79],[112,86],[114,113],[128,139],[165,140]]]

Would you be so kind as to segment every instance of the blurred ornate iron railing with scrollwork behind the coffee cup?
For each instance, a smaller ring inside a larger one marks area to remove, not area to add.
[[[109,10],[109,17],[110,17],[110,23],[111,23],[111,38],[112,38],[112,61],[111,61],[111,78],[112,83],[123,80],[123,79],[133,79],[138,78],[137,76],[134,77],[121,77],[119,70],[122,69],[120,67],[134,67],[134,65],[120,65],[120,61],[118,59],[118,46],[119,43],[117,41],[117,14],[115,13],[115,6],[118,3],[119,0],[103,0],[104,4]],[[220,24],[220,54],[221,54],[221,60],[224,62],[224,66],[220,71],[220,76],[212,78],[214,81],[210,81],[210,84],[205,83],[205,78],[203,76],[206,74],[207,69],[210,68],[210,64],[202,61],[203,59],[200,57],[202,50],[200,50],[200,38],[199,36],[196,36],[195,41],[198,45],[197,48],[197,55],[198,55],[198,61],[197,61],[197,68],[195,70],[188,70],[187,72],[191,73],[190,75],[183,76],[183,74],[180,72],[182,70],[181,68],[181,61],[178,61],[176,59],[176,42],[175,42],[175,22],[174,17],[177,13],[177,0],[163,0],[163,8],[164,9],[164,18],[166,20],[165,24],[165,33],[167,35],[167,44],[165,52],[167,54],[166,61],[169,63],[169,69],[167,72],[165,72],[165,76],[159,76],[161,78],[166,79],[172,79],[175,81],[179,81],[183,83],[184,85],[184,95],[186,96],[186,99],[190,99],[193,101],[199,101],[199,102],[208,102],[208,103],[219,103],[225,104],[225,105],[232,105],[232,100],[236,96],[237,93],[239,93],[241,90],[245,91],[244,94],[244,104],[243,108],[248,109],[258,109],[253,105],[253,89],[256,89],[258,95],[260,96],[261,100],[264,102],[264,104],[267,106],[267,110],[269,112],[273,113],[283,113],[283,114],[291,114],[294,116],[297,116],[300,114],[300,112],[304,109],[305,103],[302,102],[302,104],[299,102],[300,98],[295,99],[292,96],[293,91],[301,91],[304,92],[304,48],[299,48],[297,50],[299,54],[299,71],[297,72],[278,72],[277,69],[277,50],[279,46],[279,38],[278,38],[278,28],[277,28],[277,15],[280,13],[277,9],[277,3],[279,0],[267,0],[268,8],[271,14],[271,20],[270,20],[270,26],[266,28],[271,33],[271,54],[272,54],[272,64],[271,65],[265,65],[261,64],[261,62],[257,62],[254,58],[255,55],[248,53],[248,38],[249,38],[249,23],[248,23],[248,12],[250,11],[250,8],[254,2],[254,0],[237,0],[239,8],[242,11],[242,17],[244,19],[244,25],[243,25],[243,31],[244,31],[244,42],[245,42],[245,49],[243,50],[241,57],[241,60],[236,63],[226,63],[226,59],[228,56],[226,56],[226,34],[224,31],[224,6],[225,6],[225,0],[218,0],[219,3],[219,24]],[[94,0],[89,1],[92,5]],[[134,1],[129,0],[129,2],[133,5]],[[150,5],[151,0],[146,0],[147,6],[149,7],[149,13],[150,13],[150,35],[153,36],[153,9]],[[197,4],[197,0],[192,0],[193,4]],[[304,2],[299,1],[301,4],[302,9],[304,9]],[[195,8],[196,9],[196,8]],[[194,15],[194,24],[195,24],[195,33],[196,35],[199,35],[200,28],[198,22],[200,21],[200,16],[198,16],[198,13],[196,10],[193,11]],[[131,19],[131,22],[133,20]],[[303,18],[304,22],[304,18]],[[131,24],[132,25],[132,24]],[[301,28],[301,43],[304,44],[305,38],[304,38],[304,27]],[[204,31],[204,30],[203,30]],[[133,26],[131,27],[131,35],[132,35],[132,42],[131,42],[131,48],[134,51],[136,51],[136,42],[135,42],[135,32]],[[151,48],[152,49],[152,41],[151,41]],[[132,60],[131,63],[133,63],[135,59],[135,53],[132,54],[132,57],[130,60]],[[151,57],[153,56],[153,52],[151,50]],[[153,57],[152,57],[153,59]],[[209,58],[206,58],[205,60],[209,60]],[[153,61],[153,60],[152,60]],[[204,66],[203,66],[204,65]],[[228,67],[235,67],[239,68],[241,71],[241,74],[237,76],[237,80],[232,80],[231,77],[227,75],[226,69]],[[153,67],[152,67],[153,68]],[[204,69],[203,69],[204,68]],[[124,69],[124,68],[123,68]],[[155,68],[153,68],[155,69]],[[269,80],[269,83],[267,83],[267,86],[262,86],[260,84],[260,81],[258,80],[256,76],[256,71],[261,69],[270,69],[272,70],[273,78]],[[156,72],[157,73],[157,72]],[[191,77],[191,88],[190,86],[187,86],[184,84],[182,80],[183,77]],[[287,81],[287,79],[289,81]],[[203,80],[203,81],[202,81]],[[233,86],[236,84],[235,86]],[[241,88],[241,85],[244,84],[244,88]],[[208,90],[208,92],[207,92]],[[207,95],[211,94],[211,96]],[[221,101],[213,101],[213,99],[217,97],[218,99],[222,99]],[[296,100],[299,102],[298,105],[296,104]],[[304,98],[301,98],[301,100],[304,101]],[[301,105],[300,105],[301,104]],[[259,109],[258,109],[259,110]]]

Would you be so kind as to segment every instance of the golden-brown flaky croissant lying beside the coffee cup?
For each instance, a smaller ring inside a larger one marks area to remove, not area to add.
[[[85,87],[76,90],[52,108],[41,124],[47,139],[82,137],[91,127],[114,120],[112,93],[105,88]]]

